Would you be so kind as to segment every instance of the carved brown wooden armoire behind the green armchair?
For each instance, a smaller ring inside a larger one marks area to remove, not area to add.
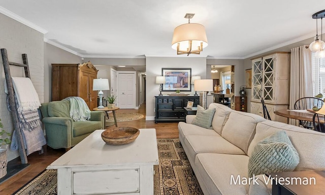
[[[79,96],[90,110],[97,107],[97,91],[92,90],[97,72],[90,61],[82,64],[52,63],[52,101]]]

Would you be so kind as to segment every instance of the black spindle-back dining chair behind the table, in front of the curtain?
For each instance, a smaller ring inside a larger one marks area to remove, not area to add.
[[[321,108],[323,104],[324,101],[319,98],[305,97],[295,102],[295,110],[312,109],[314,106],[317,106],[317,108]],[[299,124],[302,125],[304,128],[312,129],[314,127],[313,123],[310,121],[299,120]]]

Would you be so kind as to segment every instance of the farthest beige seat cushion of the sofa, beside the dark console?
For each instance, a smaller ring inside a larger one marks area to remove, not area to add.
[[[184,141],[188,135],[202,135],[202,136],[220,136],[213,129],[203,128],[194,124],[185,122],[178,123],[179,140]]]

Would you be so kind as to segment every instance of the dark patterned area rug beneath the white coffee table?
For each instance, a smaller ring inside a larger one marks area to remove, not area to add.
[[[157,146],[159,165],[154,166],[154,194],[203,194],[179,139],[157,139]],[[54,195],[56,181],[56,170],[45,170],[14,194]]]

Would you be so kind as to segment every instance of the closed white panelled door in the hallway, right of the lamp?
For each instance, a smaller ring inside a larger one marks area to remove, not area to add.
[[[118,107],[136,108],[136,74],[118,73]]]

